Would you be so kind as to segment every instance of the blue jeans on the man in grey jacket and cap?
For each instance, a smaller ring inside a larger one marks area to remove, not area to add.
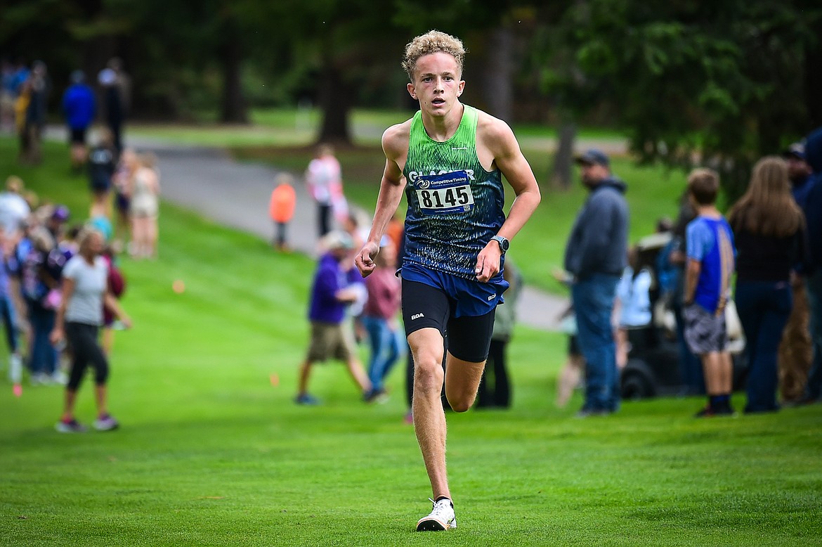
[[[584,410],[619,410],[617,346],[611,326],[619,276],[594,274],[571,288],[577,340],[585,358]]]

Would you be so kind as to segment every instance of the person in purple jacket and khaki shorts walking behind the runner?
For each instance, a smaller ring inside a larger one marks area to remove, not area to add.
[[[349,234],[333,231],[321,240],[325,254],[314,274],[308,319],[311,322],[311,342],[306,359],[300,366],[298,405],[318,405],[320,401],[308,393],[308,378],[312,366],[327,359],[344,362],[361,393],[371,390],[363,364],[354,350],[349,331],[344,328],[346,308],[358,299],[359,291],[349,286],[348,271],[343,264],[353,264],[353,241]]]

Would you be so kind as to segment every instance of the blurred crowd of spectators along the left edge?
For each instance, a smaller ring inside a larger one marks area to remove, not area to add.
[[[123,146],[130,81],[122,62],[112,59],[96,83],[89,85],[85,73],[76,70],[60,101],[71,172],[88,177],[88,215],[41,201],[15,175],[0,193],[0,317],[8,378],[17,396],[24,384],[66,386],[57,424],[63,433],[85,431],[73,409],[89,365],[95,369],[99,410],[95,428],[118,427],[108,413],[105,389],[114,331],[130,324],[116,301],[126,286],[118,254],[157,256],[159,171],[154,155]],[[52,87],[42,61],[3,60],[0,124],[19,138],[21,165],[41,163]]]

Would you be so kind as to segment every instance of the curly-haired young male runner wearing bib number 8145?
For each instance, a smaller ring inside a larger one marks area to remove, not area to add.
[[[456,527],[446,478],[446,416],[468,410],[477,395],[491,343],[494,309],[507,283],[509,241],[539,204],[539,188],[508,125],[459,102],[465,82],[459,39],[432,30],[405,48],[409,94],[420,110],[382,136],[386,169],[368,241],[355,262],[374,270],[380,239],[405,192],[406,252],[402,263],[405,332],[414,360],[413,423],[431,480],[431,514],[418,531]],[[516,198],[502,211],[501,175]],[[446,372],[442,370],[448,333]]]

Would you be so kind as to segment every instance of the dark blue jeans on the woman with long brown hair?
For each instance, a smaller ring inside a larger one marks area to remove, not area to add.
[[[737,281],[737,313],[748,355],[746,412],[778,410],[779,342],[791,315],[793,295],[786,281]]]

